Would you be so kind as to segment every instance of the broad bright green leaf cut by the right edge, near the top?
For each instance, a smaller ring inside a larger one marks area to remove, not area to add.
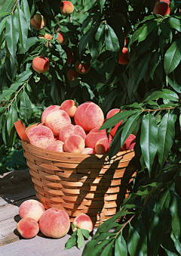
[[[176,39],[164,55],[164,70],[166,75],[176,69],[181,61],[181,39]]]

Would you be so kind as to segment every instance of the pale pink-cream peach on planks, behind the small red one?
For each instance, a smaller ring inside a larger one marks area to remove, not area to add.
[[[40,219],[44,211],[45,209],[43,204],[41,204],[41,202],[34,199],[23,201],[23,203],[20,204],[20,208],[19,208],[19,214],[22,219],[26,217],[30,217],[36,222],[38,222],[38,220]]]

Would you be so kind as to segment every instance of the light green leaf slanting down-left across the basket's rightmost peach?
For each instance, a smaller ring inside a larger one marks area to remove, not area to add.
[[[124,123],[124,127],[121,133],[121,147],[124,145],[125,140],[133,132],[134,128],[137,126],[137,120],[140,117],[140,112],[133,114],[128,118],[127,122]]]

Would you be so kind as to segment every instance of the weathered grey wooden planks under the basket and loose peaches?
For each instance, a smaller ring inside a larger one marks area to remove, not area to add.
[[[64,250],[71,233],[61,239],[51,239],[42,233],[32,239],[23,239],[19,235],[19,207],[23,201],[31,198],[36,199],[29,169],[0,175],[0,256],[81,255],[84,246],[81,250],[76,247]]]

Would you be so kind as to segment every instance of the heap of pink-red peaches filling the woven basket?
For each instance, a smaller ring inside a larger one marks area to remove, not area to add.
[[[62,105],[51,105],[41,115],[41,123],[27,130],[30,144],[51,151],[79,154],[108,154],[109,146],[122,120],[109,133],[100,130],[103,123],[117,114],[118,108],[110,110],[106,119],[102,109],[94,102],[77,105],[69,99]],[[130,134],[120,151],[133,149],[136,136]]]

